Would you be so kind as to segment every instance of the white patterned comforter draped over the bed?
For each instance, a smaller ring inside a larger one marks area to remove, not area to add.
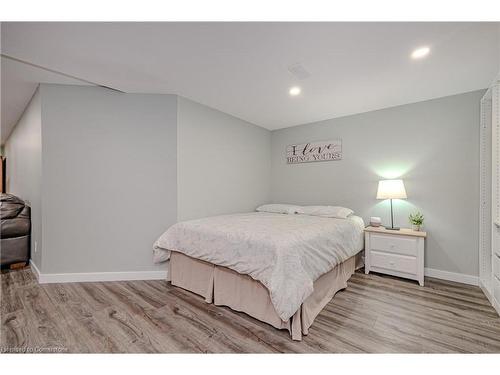
[[[284,321],[313,283],[363,249],[363,220],[253,212],[180,222],[154,244],[260,281]]]

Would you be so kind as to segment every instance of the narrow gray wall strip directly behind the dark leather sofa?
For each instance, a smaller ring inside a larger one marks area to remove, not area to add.
[[[37,267],[42,260],[41,108],[37,90],[7,139],[4,150],[7,156],[7,192],[29,201],[31,206],[31,257]]]

